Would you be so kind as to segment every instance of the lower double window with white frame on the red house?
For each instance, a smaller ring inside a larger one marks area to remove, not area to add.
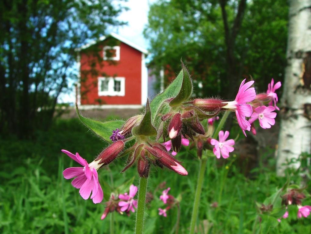
[[[124,96],[124,77],[98,77],[98,96]]]

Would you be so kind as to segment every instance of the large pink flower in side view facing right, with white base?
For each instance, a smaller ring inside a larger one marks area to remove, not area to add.
[[[245,117],[250,117],[253,112],[252,106],[246,103],[251,102],[255,99],[256,92],[254,88],[250,88],[250,86],[253,85],[254,81],[248,81],[246,84],[244,84],[245,80],[246,79],[242,81],[235,100],[232,102],[224,102],[226,103],[226,105],[222,108],[235,111],[239,126],[241,127],[244,135],[246,136],[245,130],[250,131],[251,125],[245,119]]]

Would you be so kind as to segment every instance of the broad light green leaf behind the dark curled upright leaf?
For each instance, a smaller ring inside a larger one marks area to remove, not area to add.
[[[166,89],[157,95],[150,103],[151,109],[151,122],[153,126],[158,127],[160,125],[161,116],[169,112],[170,107],[168,103],[164,105],[165,100],[174,98],[179,94],[181,86],[183,84],[183,69],[179,72],[178,76],[173,80]],[[160,116],[160,117],[159,117]]]

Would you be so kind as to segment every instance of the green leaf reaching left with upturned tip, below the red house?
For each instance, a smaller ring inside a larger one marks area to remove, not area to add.
[[[98,120],[83,117],[79,113],[77,104],[76,104],[76,111],[79,116],[79,119],[86,127],[88,127],[95,135],[99,136],[101,139],[109,143],[112,143],[112,141],[109,138],[112,134],[112,131],[115,130],[116,128],[121,128],[124,124],[124,121],[122,120],[100,122]]]

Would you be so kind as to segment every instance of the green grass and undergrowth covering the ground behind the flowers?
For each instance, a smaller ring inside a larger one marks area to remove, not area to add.
[[[100,220],[104,201],[93,204],[83,200],[62,175],[65,168],[77,165],[61,149],[79,152],[91,162],[105,144],[88,133],[77,119],[58,120],[49,131],[38,131],[36,135],[34,140],[0,140],[0,233],[109,233],[110,225],[114,226],[114,233],[133,233],[135,213],[129,217],[114,213],[114,220],[111,214]],[[256,202],[261,204],[287,180],[304,181],[309,189],[310,180],[300,176],[301,172],[291,172],[287,178],[276,177],[273,155],[273,149],[260,149],[258,167],[247,176],[239,155],[232,154],[227,160],[209,159],[197,233],[311,233],[310,217],[297,220],[295,210],[290,210],[290,217],[281,223],[266,214],[261,223],[254,225],[258,220]],[[146,234],[175,233],[177,209],[170,209],[167,218],[158,215],[158,208],[163,208],[159,200],[159,185],[163,182],[171,187],[169,194],[181,199],[179,233],[188,233],[199,161],[190,147],[183,148],[177,156],[188,176],[151,167],[148,191],[153,199],[147,204]],[[125,159],[120,158],[99,171],[105,198],[110,195],[109,187],[114,190],[132,181],[138,186],[136,167],[120,173],[124,164]],[[311,205],[309,198],[304,203]]]

